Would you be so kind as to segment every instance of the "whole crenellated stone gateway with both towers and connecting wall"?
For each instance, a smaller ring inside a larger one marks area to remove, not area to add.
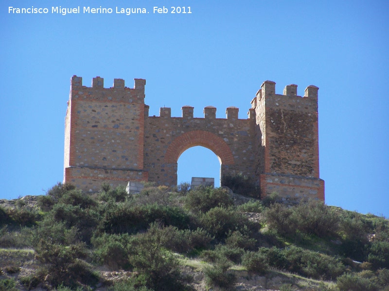
[[[318,173],[318,88],[309,86],[304,97],[297,85],[275,94],[275,83],[265,81],[251,101],[247,119],[229,107],[226,118],[216,108],[182,107],[182,117],[170,108],[149,116],[144,104],[145,80],[134,88],[115,79],[104,88],[103,78],[92,86],[71,78],[65,120],[64,182],[88,192],[102,182],[113,186],[128,181],[155,181],[177,185],[177,160],[192,146],[211,149],[221,163],[220,175],[242,174],[257,181],[261,195],[278,192],[285,198],[324,200],[324,181]]]

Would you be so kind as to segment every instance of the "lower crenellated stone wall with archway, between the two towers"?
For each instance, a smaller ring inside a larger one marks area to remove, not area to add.
[[[146,108],[147,110],[147,108]],[[221,162],[221,175],[254,176],[254,120],[238,119],[238,108],[229,107],[226,119],[215,118],[216,108],[206,107],[204,118],[193,117],[193,107],[182,107],[182,117],[171,117],[161,108],[159,117],[145,123],[145,170],[149,179],[166,186],[177,185],[177,160],[192,146],[211,149]]]

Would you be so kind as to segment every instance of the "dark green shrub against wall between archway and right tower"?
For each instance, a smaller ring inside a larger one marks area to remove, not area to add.
[[[221,185],[229,187],[233,193],[259,198],[259,189],[253,178],[242,174],[231,176],[223,175]]]

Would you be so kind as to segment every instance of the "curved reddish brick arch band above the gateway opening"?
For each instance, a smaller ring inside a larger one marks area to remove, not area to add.
[[[192,130],[174,139],[166,150],[165,162],[176,163],[181,154],[193,146],[204,146],[212,150],[221,164],[234,164],[234,157],[227,143],[212,132],[204,130]]]

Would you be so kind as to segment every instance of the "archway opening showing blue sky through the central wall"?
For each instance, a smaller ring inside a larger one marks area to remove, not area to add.
[[[192,177],[214,178],[220,187],[220,161],[212,150],[193,146],[185,150],[177,161],[177,182],[191,182]]]

